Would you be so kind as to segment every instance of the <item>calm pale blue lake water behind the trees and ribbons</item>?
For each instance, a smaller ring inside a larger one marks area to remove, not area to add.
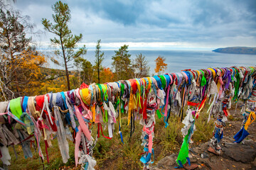
[[[111,59],[114,55],[114,50],[102,51],[105,52],[103,66],[111,68]],[[149,62],[150,74],[154,74],[154,68],[156,67],[154,60],[156,60],[159,55],[166,58],[166,64],[168,64],[166,72],[168,73],[181,72],[182,69],[206,69],[208,67],[232,66],[245,67],[255,66],[256,64],[256,55],[224,54],[210,50],[129,50],[129,54],[132,55],[132,60],[135,59],[136,55],[139,55],[139,53],[146,56],[146,60]],[[87,50],[85,59],[93,63],[95,60],[95,50]],[[49,65],[51,68],[61,69],[53,63]]]

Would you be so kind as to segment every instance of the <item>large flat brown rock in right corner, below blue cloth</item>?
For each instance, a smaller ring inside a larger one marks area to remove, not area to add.
[[[247,145],[225,143],[225,146],[222,148],[223,157],[235,160],[236,162],[250,163],[256,157],[256,148],[250,145],[252,145],[250,141],[247,141]]]

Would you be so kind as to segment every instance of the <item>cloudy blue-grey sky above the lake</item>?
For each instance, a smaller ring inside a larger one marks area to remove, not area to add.
[[[214,49],[256,46],[255,0],[70,0],[70,30],[82,33],[87,48]],[[43,30],[52,20],[53,0],[16,0],[16,8]],[[33,40],[50,45],[50,33]]]

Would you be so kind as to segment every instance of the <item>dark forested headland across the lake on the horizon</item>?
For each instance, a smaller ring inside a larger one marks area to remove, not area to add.
[[[213,52],[221,52],[228,54],[244,54],[256,55],[256,47],[225,47],[213,50]]]

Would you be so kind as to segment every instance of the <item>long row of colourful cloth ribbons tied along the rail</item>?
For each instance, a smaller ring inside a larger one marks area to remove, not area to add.
[[[155,117],[163,118],[169,125],[171,114],[178,116],[185,125],[181,132],[184,140],[177,163],[182,166],[188,159],[189,142],[196,130],[195,121],[201,110],[210,102],[210,116],[216,118],[211,146],[220,149],[223,127],[229,115],[231,99],[247,101],[244,128],[255,120],[255,71],[256,67],[186,69],[181,73],[164,74],[142,79],[129,79],[105,84],[82,84],[71,91],[49,93],[41,96],[23,96],[0,103],[0,144],[4,164],[9,164],[8,147],[21,145],[24,156],[32,157],[28,142],[36,142],[39,156],[41,149],[51,147],[52,136],[57,137],[63,162],[68,162],[68,140],[75,142],[75,164],[82,169],[94,169],[93,148],[100,134],[111,139],[114,124],[122,142],[122,117],[128,118],[130,136],[134,121],[142,125],[144,169],[154,162]],[[248,100],[249,99],[249,100]],[[188,110],[184,107],[188,105]],[[186,114],[186,115],[185,115]],[[208,119],[208,120],[209,120]],[[92,123],[97,125],[97,136],[92,137]],[[107,126],[103,134],[102,126]],[[245,129],[246,130],[246,129]],[[238,142],[241,140],[240,132]],[[246,134],[245,134],[246,135]],[[40,141],[44,141],[44,146]],[[42,148],[41,148],[42,147]],[[6,150],[7,148],[7,150]],[[153,157],[153,161],[152,161]],[[49,160],[48,160],[49,161]]]

